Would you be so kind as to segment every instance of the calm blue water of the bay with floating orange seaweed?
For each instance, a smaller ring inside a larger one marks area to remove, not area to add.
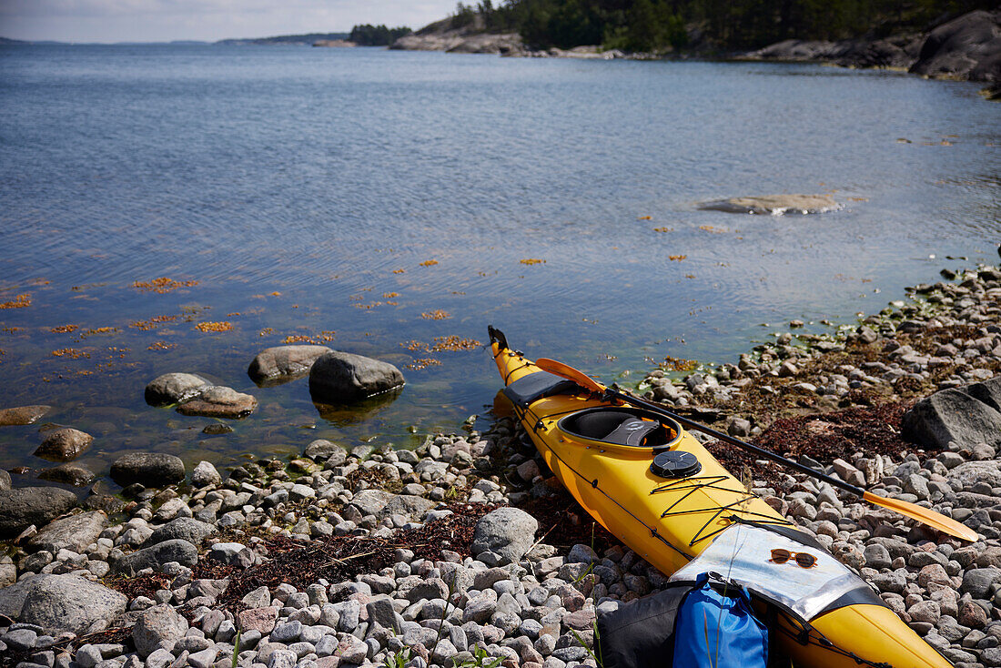
[[[997,260],[1001,107],[977,88],[808,65],[0,47],[0,302],[30,302],[0,310],[0,407],[52,405],[45,420],[96,437],[80,461],[103,473],[136,449],[225,464],[456,430],[499,387],[488,353],[410,343],[485,343],[487,323],[609,382],[666,356],[733,362],[790,318],[849,323],[944,265]],[[696,208],[778,192],[845,208]],[[161,276],[196,283],[133,285]],[[246,376],[287,337],[391,362],[407,386],[320,415],[305,381]],[[142,400],[173,371],[260,408],[205,436],[212,421]],[[40,440],[0,429],[0,465],[46,466]]]

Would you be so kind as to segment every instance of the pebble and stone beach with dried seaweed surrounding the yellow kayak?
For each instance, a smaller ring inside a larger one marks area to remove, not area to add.
[[[1001,270],[909,296],[830,337],[794,336],[794,321],[736,365],[657,370],[640,391],[976,529],[982,540],[962,545],[751,462],[756,491],[931,645],[959,666],[1001,666]],[[262,355],[262,378],[302,373]],[[187,381],[174,389],[204,392]],[[864,412],[880,410],[870,439]],[[920,447],[901,439],[908,429]],[[134,455],[114,473],[124,499],[84,508],[41,488],[52,512],[0,559],[0,664],[597,666],[597,615],[666,577],[595,529],[523,436],[498,418],[416,451],[317,440],[225,476]],[[0,479],[5,519],[23,493],[9,487]]]

